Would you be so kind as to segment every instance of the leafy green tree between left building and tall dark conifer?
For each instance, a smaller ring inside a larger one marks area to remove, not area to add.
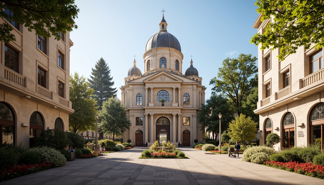
[[[86,78],[78,73],[70,75],[70,101],[74,113],[69,115],[69,130],[76,133],[96,129],[97,101],[91,98],[94,90]]]

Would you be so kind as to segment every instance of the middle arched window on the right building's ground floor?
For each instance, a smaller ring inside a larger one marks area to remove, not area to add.
[[[284,115],[283,124],[283,147],[291,148],[295,146],[295,118],[291,112]]]

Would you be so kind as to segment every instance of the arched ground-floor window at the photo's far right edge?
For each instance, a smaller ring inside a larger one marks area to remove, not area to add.
[[[310,125],[310,142],[320,143],[323,150],[324,142],[324,103],[318,103],[312,109],[309,115],[309,125]]]

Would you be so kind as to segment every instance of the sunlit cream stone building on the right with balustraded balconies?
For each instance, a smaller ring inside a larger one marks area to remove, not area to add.
[[[263,33],[261,16],[253,27]],[[273,20],[273,19],[272,19]],[[260,145],[269,133],[280,135],[275,150],[320,142],[324,134],[323,48],[299,47],[295,54],[278,60],[280,50],[260,50],[259,102],[254,110],[260,115]]]

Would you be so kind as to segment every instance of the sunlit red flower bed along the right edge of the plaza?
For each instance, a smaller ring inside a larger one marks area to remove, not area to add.
[[[324,178],[324,166],[313,165],[312,163],[294,162],[276,162],[266,161],[265,164],[270,167],[294,171],[311,177]]]

